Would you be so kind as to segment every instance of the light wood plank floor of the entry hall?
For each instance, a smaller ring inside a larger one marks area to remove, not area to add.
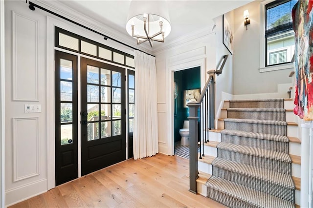
[[[11,208],[76,207],[196,207],[223,205],[188,191],[189,160],[156,154],[154,157],[124,161]]]

